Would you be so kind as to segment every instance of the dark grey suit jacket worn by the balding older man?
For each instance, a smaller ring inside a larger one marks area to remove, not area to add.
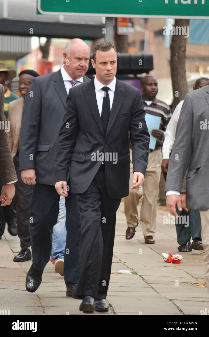
[[[83,81],[90,80],[83,76]],[[55,183],[56,147],[67,97],[60,70],[34,78],[25,97],[19,139],[20,171],[34,168],[40,184]]]

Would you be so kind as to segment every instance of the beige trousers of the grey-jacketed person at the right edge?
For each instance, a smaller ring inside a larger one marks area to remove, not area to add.
[[[200,211],[200,218],[202,226],[201,238],[205,251],[205,278],[209,292],[209,209],[207,211]]]

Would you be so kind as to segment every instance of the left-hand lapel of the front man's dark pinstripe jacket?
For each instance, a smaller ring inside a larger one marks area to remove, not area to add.
[[[87,100],[88,106],[89,106],[89,108],[90,108],[90,110],[91,110],[91,112],[92,112],[101,132],[103,133],[103,135],[105,135],[104,128],[103,128],[103,125],[102,125],[102,120],[101,120],[98,105],[97,105],[94,79],[89,81],[89,85],[85,89],[83,89],[83,93],[84,93],[84,96]]]

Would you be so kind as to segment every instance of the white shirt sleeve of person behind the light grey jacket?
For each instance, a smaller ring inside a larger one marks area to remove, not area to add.
[[[166,131],[165,131],[165,140],[162,146],[162,159],[170,158],[170,153],[174,145],[175,136],[176,136],[176,127],[177,127],[177,123],[179,120],[183,102],[184,100],[179,102],[179,104],[176,106],[176,109],[174,110],[174,113],[167,125]]]

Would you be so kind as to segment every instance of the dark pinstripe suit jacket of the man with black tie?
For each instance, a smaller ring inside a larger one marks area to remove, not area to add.
[[[105,161],[107,193],[113,199],[127,196],[130,176],[129,130],[134,171],[145,174],[150,136],[140,91],[116,80],[105,135],[94,79],[70,90],[57,145],[55,181],[67,181],[70,167],[71,192],[83,193],[101,165],[101,161],[92,160],[93,153],[108,153],[108,156],[114,153],[117,162]]]

